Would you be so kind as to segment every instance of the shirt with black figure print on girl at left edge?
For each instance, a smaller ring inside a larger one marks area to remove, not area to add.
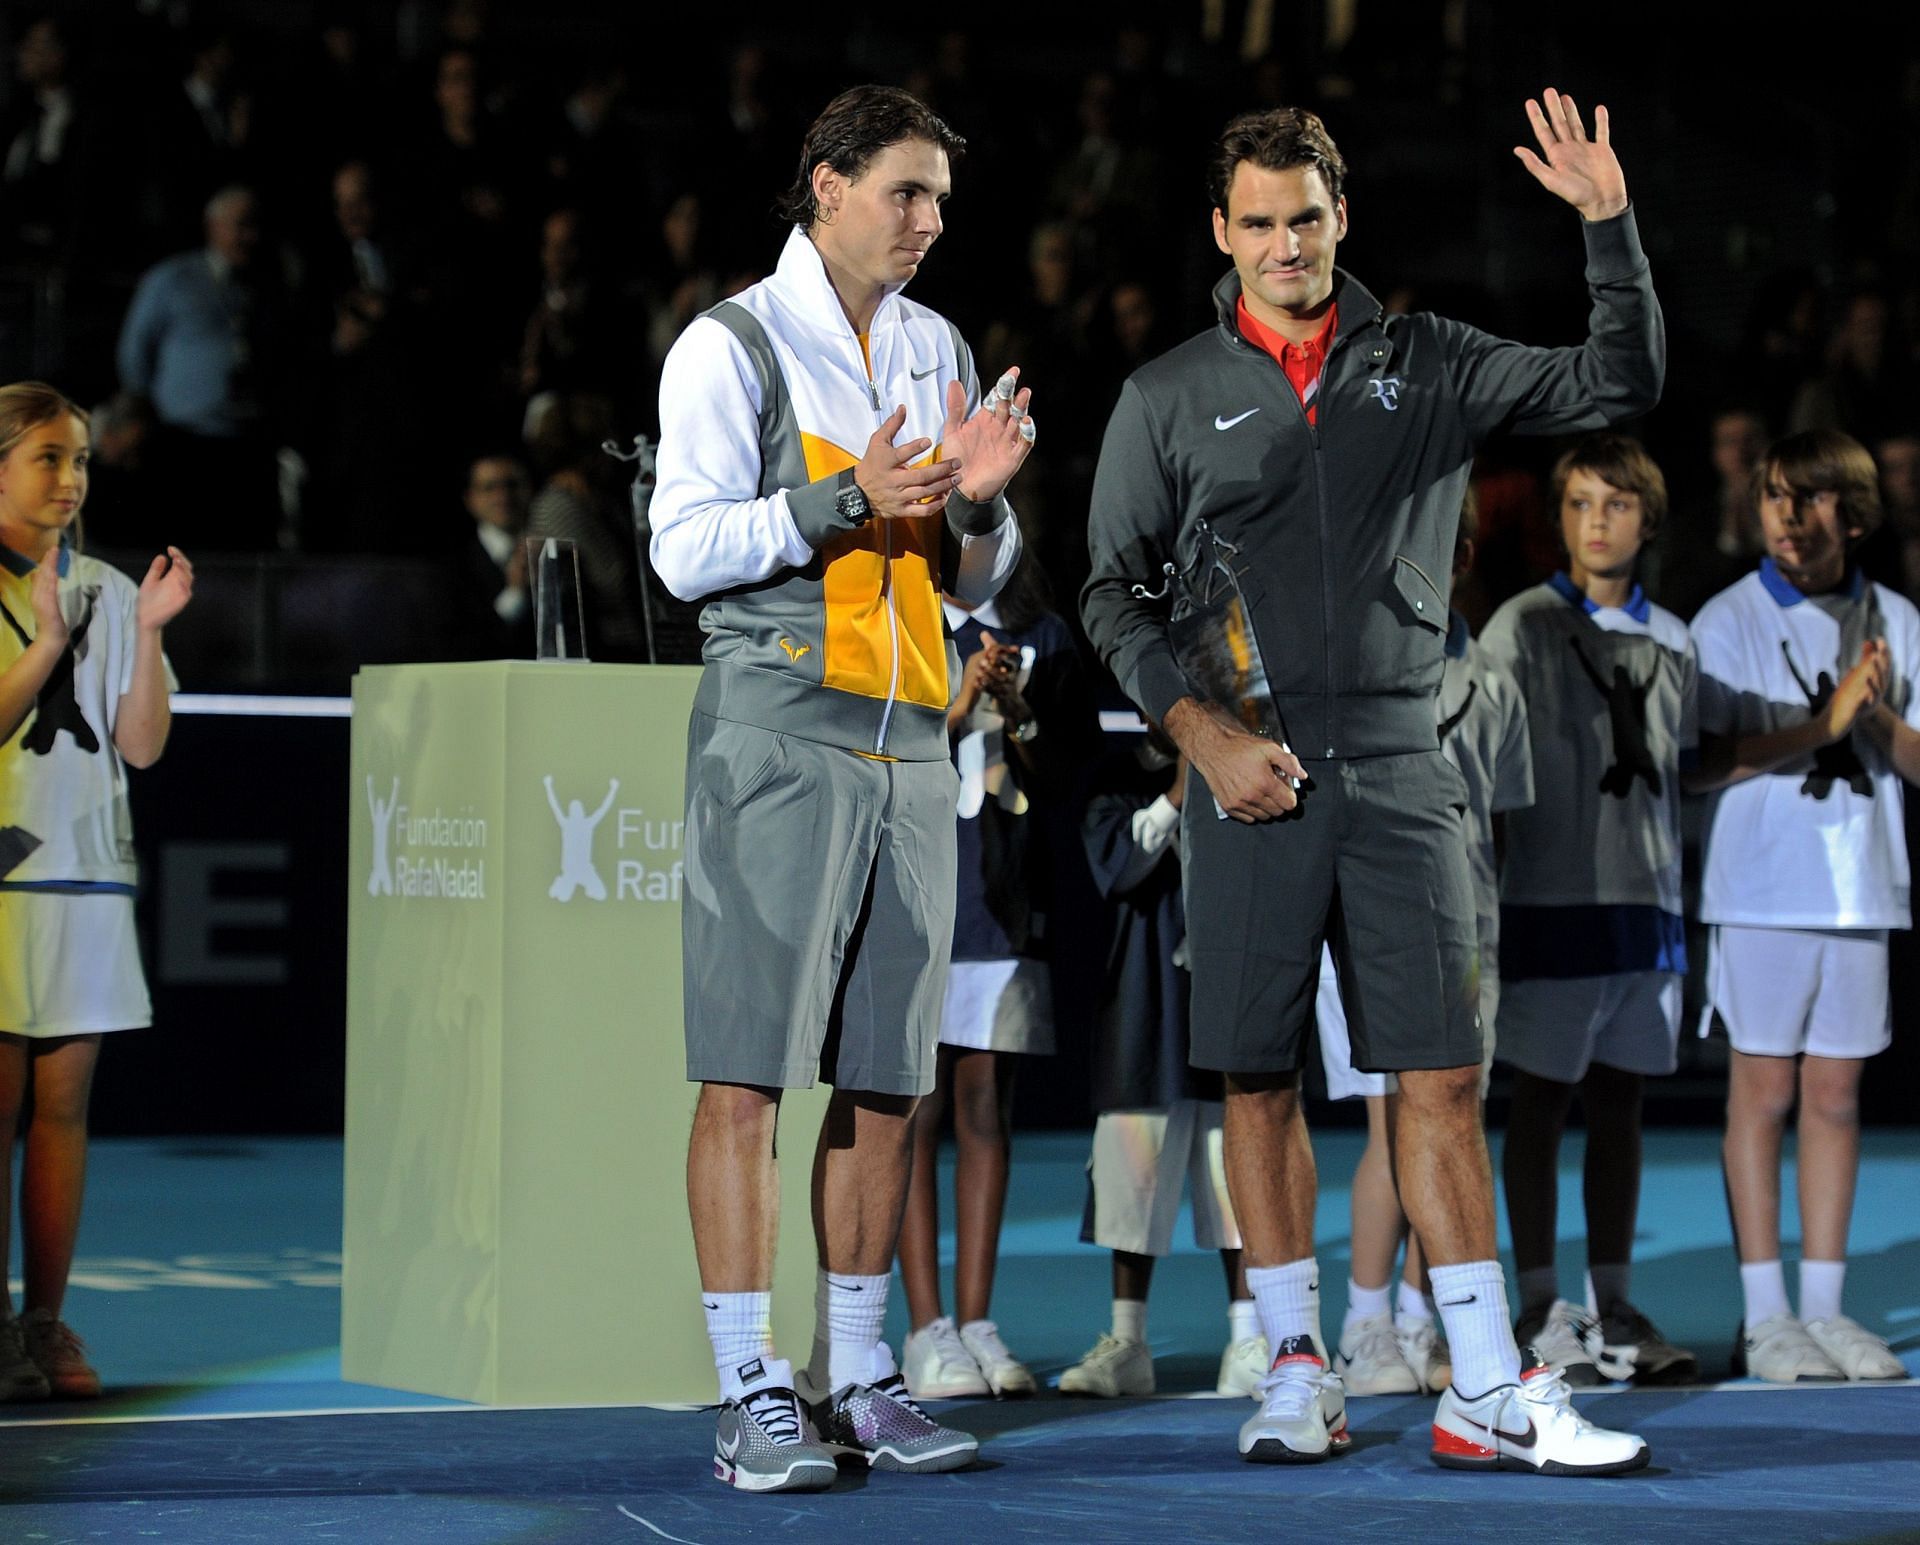
[[[33,641],[33,562],[0,545],[0,670]],[[0,747],[0,889],[63,894],[134,887],[127,764],[113,747],[132,687],[138,587],[96,559],[60,555],[71,641],[33,712]]]

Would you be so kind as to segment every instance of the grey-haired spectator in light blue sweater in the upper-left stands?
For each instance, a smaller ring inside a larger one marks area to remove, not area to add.
[[[165,430],[169,530],[202,551],[257,551],[280,530],[288,305],[259,261],[252,190],[217,192],[205,228],[202,250],[142,274],[121,326],[119,376]]]

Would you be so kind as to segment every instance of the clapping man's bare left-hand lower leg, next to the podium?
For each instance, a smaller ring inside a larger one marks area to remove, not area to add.
[[[774,1288],[778,1121],[778,1088],[701,1084],[687,1144],[687,1211],[701,1288],[708,1294],[764,1294]]]

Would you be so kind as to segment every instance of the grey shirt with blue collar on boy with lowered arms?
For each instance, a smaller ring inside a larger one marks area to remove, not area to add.
[[[1686,971],[1680,768],[1697,749],[1686,624],[1636,585],[1597,606],[1565,574],[1501,606],[1480,647],[1526,701],[1534,804],[1507,818],[1500,975]]]

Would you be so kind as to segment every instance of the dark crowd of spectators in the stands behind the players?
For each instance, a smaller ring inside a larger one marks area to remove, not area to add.
[[[1123,12],[1110,40],[1018,63],[966,31],[852,46],[970,136],[916,296],[1037,388],[1048,443],[1021,516],[1068,614],[1106,413],[1204,322],[1221,267],[1187,169],[1219,115],[1308,96],[1338,119],[1348,98],[1342,132],[1379,134],[1369,102],[1461,102],[1473,38],[1452,8],[1432,36],[1373,8],[1227,12]],[[330,0],[298,31],[230,17],[129,4],[83,25],[52,8],[0,35],[0,376],[102,405],[92,543],[140,547],[163,518],[202,555],[445,562],[470,591],[447,653],[484,656],[524,576],[461,505],[476,466],[505,461],[528,497],[492,530],[572,535],[595,656],[643,658],[628,472],[601,443],[653,432],[674,338],[772,265],[768,205],[812,106],[780,69],[793,38],[718,44],[662,83],[611,23],[530,42],[486,0]],[[1676,493],[1649,591],[1682,616],[1757,555],[1738,495],[1766,438],[1801,428],[1874,449],[1889,518],[1868,568],[1920,583],[1920,288],[1887,253],[1847,257],[1759,284],[1738,345],[1670,393],[1697,411],[1649,426]],[[1390,309],[1438,290],[1396,263]],[[1480,468],[1475,624],[1553,566],[1542,472],[1498,447]]]

